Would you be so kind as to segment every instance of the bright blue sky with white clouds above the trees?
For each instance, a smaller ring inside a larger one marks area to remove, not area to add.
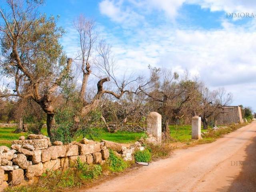
[[[69,57],[78,50],[72,21],[82,13],[112,45],[119,71],[143,74],[149,64],[188,70],[210,89],[232,92],[233,105],[256,111],[255,18],[226,17],[256,14],[255,0],[46,0],[40,12],[60,15]]]

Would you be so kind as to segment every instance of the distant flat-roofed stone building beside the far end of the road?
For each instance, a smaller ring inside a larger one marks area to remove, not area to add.
[[[228,125],[239,122],[243,122],[240,106],[226,106],[216,117],[217,125]]]

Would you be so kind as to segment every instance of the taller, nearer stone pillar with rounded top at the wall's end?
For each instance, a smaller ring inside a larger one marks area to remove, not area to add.
[[[147,116],[147,132],[162,142],[162,116],[157,112],[151,112]]]

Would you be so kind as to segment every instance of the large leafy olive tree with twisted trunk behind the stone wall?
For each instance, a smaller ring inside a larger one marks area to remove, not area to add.
[[[32,98],[47,114],[47,132],[54,129],[54,100],[59,86],[68,78],[72,59],[59,43],[64,30],[56,19],[40,15],[40,0],[7,0],[1,16],[1,75],[14,80],[13,92],[1,97]]]

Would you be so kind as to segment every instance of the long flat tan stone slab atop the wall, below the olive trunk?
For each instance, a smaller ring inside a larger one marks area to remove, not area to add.
[[[35,149],[34,150],[42,150],[48,148],[48,140],[47,138],[44,139],[31,139],[31,140],[13,140],[13,144],[19,144],[19,145],[25,145],[25,144],[30,144],[32,145]]]

